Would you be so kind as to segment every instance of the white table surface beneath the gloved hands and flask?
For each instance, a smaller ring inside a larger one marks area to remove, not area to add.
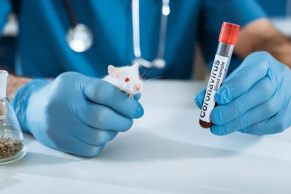
[[[215,136],[198,124],[205,83],[149,81],[145,115],[96,158],[25,135],[27,155],[0,166],[0,194],[290,194],[291,129]]]

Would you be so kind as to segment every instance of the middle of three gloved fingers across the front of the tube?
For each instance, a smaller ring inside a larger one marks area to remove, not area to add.
[[[223,125],[255,106],[267,101],[275,93],[276,84],[267,77],[255,83],[249,91],[227,104],[219,105],[210,114],[210,120],[215,125]]]

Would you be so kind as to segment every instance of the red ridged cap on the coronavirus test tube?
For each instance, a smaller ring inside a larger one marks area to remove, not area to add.
[[[223,22],[218,41],[230,45],[236,45],[240,28],[240,25]]]

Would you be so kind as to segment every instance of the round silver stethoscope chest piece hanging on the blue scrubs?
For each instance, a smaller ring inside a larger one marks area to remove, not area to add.
[[[69,47],[76,52],[90,49],[94,42],[90,28],[80,23],[67,31],[65,39]]]

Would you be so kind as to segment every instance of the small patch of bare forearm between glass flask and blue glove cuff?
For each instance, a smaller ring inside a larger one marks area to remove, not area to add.
[[[21,88],[23,85],[25,85],[27,82],[31,81],[32,79],[16,76],[9,71],[8,73],[9,76],[7,78],[7,97],[9,97],[9,99],[13,102],[17,90]]]

